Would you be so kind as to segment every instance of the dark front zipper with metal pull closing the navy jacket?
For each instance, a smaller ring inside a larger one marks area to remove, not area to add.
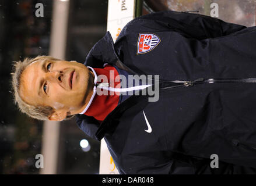
[[[161,90],[168,89],[168,88],[176,88],[176,87],[189,87],[193,86],[195,84],[202,84],[202,83],[256,83],[256,78],[225,78],[225,79],[220,79],[220,78],[209,78],[209,79],[204,79],[204,78],[198,78],[197,80],[194,81],[181,81],[181,80],[175,80],[175,81],[169,81],[169,80],[160,80],[161,82],[172,82],[172,83],[177,83],[181,85],[174,85],[174,86],[169,86],[169,87],[163,87]]]

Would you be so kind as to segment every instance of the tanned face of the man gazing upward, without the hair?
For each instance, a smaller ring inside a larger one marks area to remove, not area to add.
[[[78,62],[39,60],[23,71],[20,96],[31,105],[51,106],[58,115],[75,115],[93,93],[93,76]]]

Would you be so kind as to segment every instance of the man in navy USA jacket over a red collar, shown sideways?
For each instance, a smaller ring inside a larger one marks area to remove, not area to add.
[[[256,173],[255,36],[256,27],[208,16],[152,13],[129,22],[115,44],[107,32],[85,66],[45,56],[22,70],[16,63],[16,100],[37,119],[76,115],[82,131],[106,140],[122,174]],[[144,75],[128,86],[139,95],[111,95],[123,91],[118,75]]]

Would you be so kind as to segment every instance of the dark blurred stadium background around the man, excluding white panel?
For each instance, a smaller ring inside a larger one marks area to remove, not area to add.
[[[137,0],[136,16],[167,9],[196,10],[209,16],[213,2],[219,5],[219,19],[255,26],[255,0]],[[37,3],[44,6],[43,17],[35,15]],[[61,3],[65,8],[54,14],[54,6],[61,8]],[[35,157],[42,153],[46,136],[43,121],[23,115],[13,103],[12,62],[50,55],[51,41],[58,37],[51,33],[53,23],[66,17],[62,58],[83,63],[90,48],[106,34],[107,11],[107,0],[0,0],[0,174],[40,174]],[[75,119],[62,121],[56,137],[55,173],[99,174],[100,142],[80,131]]]

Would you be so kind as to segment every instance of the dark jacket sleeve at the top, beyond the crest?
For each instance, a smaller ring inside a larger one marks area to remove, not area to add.
[[[215,17],[171,10],[136,17],[128,23],[128,27],[131,28],[131,31],[137,31],[138,27],[143,27],[145,31],[153,31],[152,28],[155,31],[171,30],[197,40],[222,37],[247,28],[239,24],[224,22]]]

